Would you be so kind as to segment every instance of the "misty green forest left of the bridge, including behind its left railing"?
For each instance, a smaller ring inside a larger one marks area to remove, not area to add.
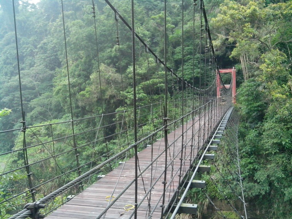
[[[76,121],[74,127],[74,131],[77,133],[76,141],[79,147],[79,162],[82,172],[87,171],[93,165],[100,164],[113,153],[122,150],[125,145],[129,145],[134,139],[133,132],[127,133],[126,131],[133,128],[131,32],[120,20],[117,26],[113,11],[106,6],[104,1],[96,1],[95,4],[99,59],[96,52],[91,1],[64,1],[72,117],[74,119],[87,118]],[[128,1],[116,0],[112,1],[112,4],[130,23]],[[179,73],[181,68],[180,2],[169,1],[168,4],[168,65],[181,75]],[[19,122],[22,117],[12,2],[2,0],[0,5],[0,17],[4,24],[1,25],[0,30],[0,108],[4,109],[5,113],[6,107],[12,110],[9,116],[1,117],[0,130],[9,130],[20,128],[22,124]],[[37,6],[28,1],[15,1],[15,6],[25,121],[27,126],[38,126],[26,130],[26,144],[28,146],[37,145],[27,149],[27,153],[29,154],[29,164],[34,163],[30,166],[30,171],[33,172],[33,186],[45,183],[37,187],[36,199],[39,199],[78,175],[76,170],[70,171],[72,168],[76,168],[77,161],[76,154],[74,154],[72,124],[70,123],[71,107],[62,8],[60,1],[51,0],[42,0]],[[185,25],[188,27],[192,27],[192,7],[190,6],[192,6],[190,2],[185,5],[185,10],[189,12],[185,16]],[[163,57],[163,41],[160,40],[163,37],[164,25],[161,1],[139,1],[135,8],[136,32],[159,57]],[[199,14],[199,10],[196,13]],[[199,48],[200,40],[198,21],[196,21],[196,48]],[[119,45],[116,41],[117,27]],[[185,34],[187,36],[185,38],[185,78],[192,84],[193,42],[190,37],[192,29],[187,28]],[[138,121],[139,124],[143,124],[139,130],[140,137],[161,126],[164,73],[163,67],[157,64],[150,54],[145,53],[145,47],[138,41],[136,43],[138,114],[147,115]],[[198,65],[197,55],[195,61],[196,86],[199,86]],[[168,81],[171,82],[169,83],[171,98],[181,98],[180,84],[177,79],[169,75]],[[208,83],[209,78],[206,81],[206,84]],[[187,98],[191,90],[186,91],[185,110],[187,110]],[[173,111],[169,117],[172,119],[179,117],[178,112],[181,108],[179,100],[172,102],[172,99],[169,99],[169,105],[173,105]],[[115,121],[122,119],[127,122],[114,124]],[[149,121],[152,121],[151,124]],[[148,124],[146,124],[147,122]],[[49,125],[44,126],[44,124]],[[100,130],[99,127],[105,126],[104,124],[106,127],[97,133],[93,131],[86,132],[85,135],[78,134],[88,130],[88,127],[91,127],[89,128],[91,130]],[[32,199],[27,189],[31,186],[28,184],[27,173],[23,168],[25,155],[21,150],[23,135],[20,131],[0,134],[0,151],[3,153],[1,173],[22,167],[18,171],[1,177],[0,213],[1,216],[6,214],[5,218],[9,217],[8,214],[18,211],[17,208],[22,208],[23,203]],[[104,136],[110,137],[100,140]],[[95,144],[96,139],[98,141]],[[92,144],[93,141],[94,144]],[[13,152],[13,156],[5,154],[13,149],[18,150]],[[58,154],[56,159],[47,159],[55,154]],[[103,156],[103,154],[106,155]],[[91,160],[93,161],[90,162]],[[103,171],[106,172],[106,170]],[[67,174],[62,175],[64,172]],[[50,181],[58,175],[62,175],[62,177]],[[94,181],[95,178],[92,180]],[[23,194],[10,202],[5,200],[22,192]],[[60,196],[54,202],[52,206],[60,204],[62,197]],[[50,209],[49,205],[46,210]]]

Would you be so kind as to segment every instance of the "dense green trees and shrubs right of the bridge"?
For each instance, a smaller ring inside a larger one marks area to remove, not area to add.
[[[292,215],[291,18],[291,1],[226,0],[212,19],[216,47],[231,52],[244,76],[236,105],[241,173],[247,202],[262,218]]]

